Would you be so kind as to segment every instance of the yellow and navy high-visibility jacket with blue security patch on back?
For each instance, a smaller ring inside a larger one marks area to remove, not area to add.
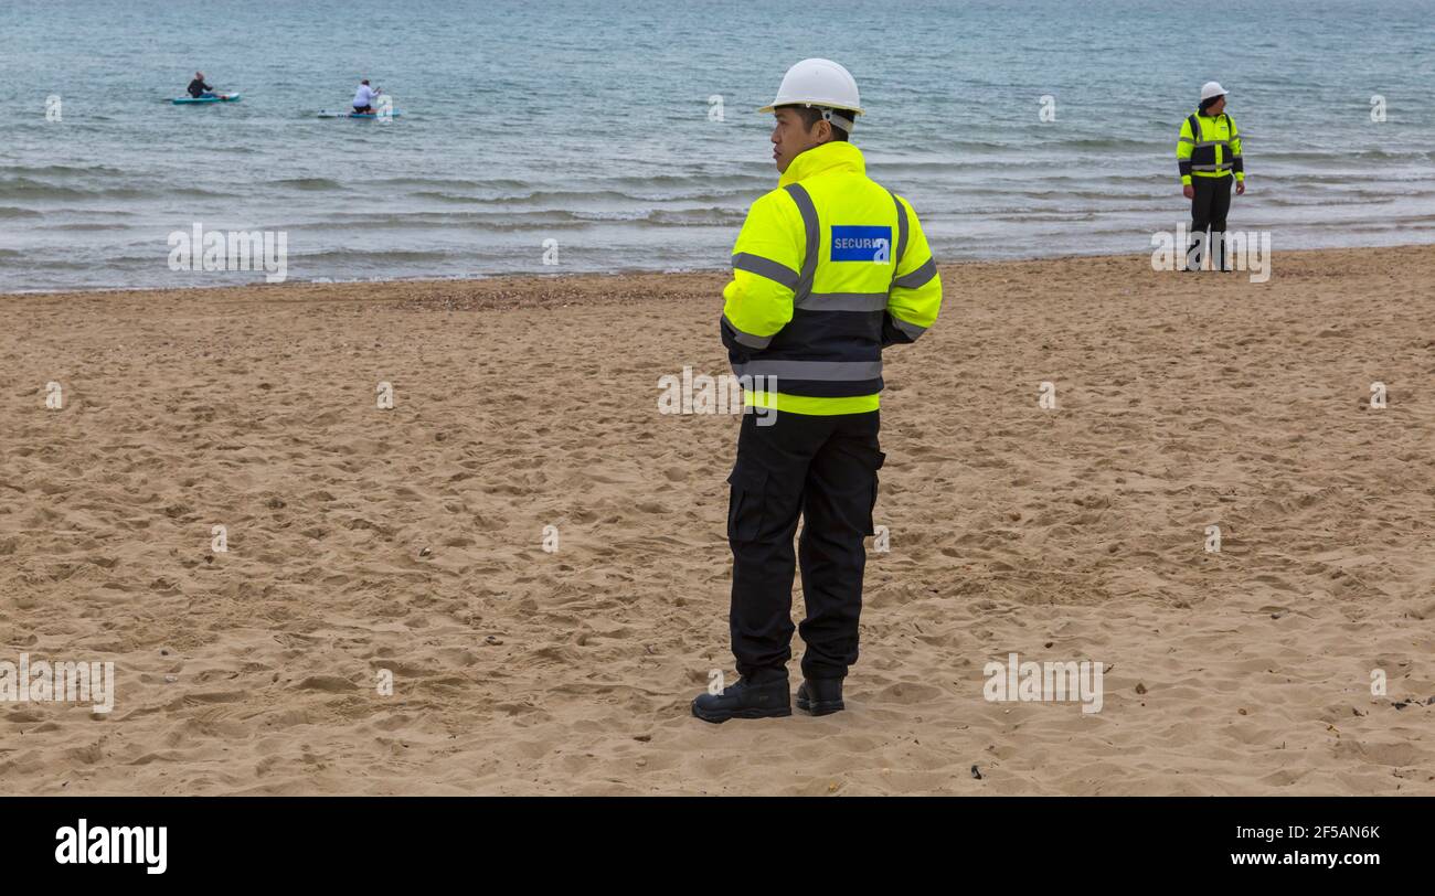
[[[748,404],[854,414],[878,407],[883,348],[937,320],[941,278],[911,205],[834,140],[792,159],[752,204],[723,300],[733,373],[759,383],[745,380]]]

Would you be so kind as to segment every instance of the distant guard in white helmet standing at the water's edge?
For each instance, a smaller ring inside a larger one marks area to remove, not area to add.
[[[1181,123],[1175,145],[1181,192],[1191,201],[1191,247],[1187,270],[1201,270],[1210,252],[1211,270],[1225,270],[1225,214],[1231,208],[1231,175],[1236,195],[1246,192],[1246,165],[1236,122],[1225,112],[1225,87],[1214,80],[1201,86],[1201,108]],[[1210,237],[1205,235],[1210,228]],[[1208,247],[1198,251],[1198,247]]]

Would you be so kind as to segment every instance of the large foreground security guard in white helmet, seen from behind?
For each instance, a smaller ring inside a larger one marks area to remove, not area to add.
[[[693,715],[791,715],[792,536],[806,644],[798,708],[842,708],[857,661],[864,538],[877,502],[883,348],[911,343],[937,320],[941,280],[905,199],[867,178],[848,142],[862,115],[857,82],[827,59],[782,79],[772,112],[778,189],[752,204],[723,290],[722,340],[739,377],[775,377],[745,401],[728,482],[732,651],[740,680],[693,700]]]

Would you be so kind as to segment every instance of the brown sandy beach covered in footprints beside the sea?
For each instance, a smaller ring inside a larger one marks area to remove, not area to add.
[[[723,274],[0,297],[0,661],[115,664],[0,791],[1435,794],[1435,247],[941,275],[848,710],[723,725]]]

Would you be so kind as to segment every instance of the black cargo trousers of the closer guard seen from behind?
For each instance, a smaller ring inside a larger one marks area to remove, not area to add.
[[[772,413],[772,411],[768,411]],[[857,662],[865,536],[872,535],[878,413],[811,416],[776,411],[758,426],[743,414],[738,463],[728,482],[732,546],[732,652],[738,674],[785,677],[792,658],[792,536],[806,618],[798,626],[805,678],[844,678]]]

